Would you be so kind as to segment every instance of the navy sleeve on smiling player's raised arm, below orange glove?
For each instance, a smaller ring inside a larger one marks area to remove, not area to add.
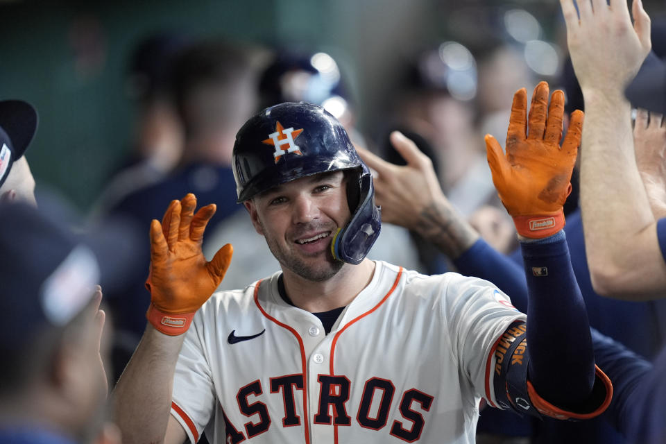
[[[529,380],[558,407],[586,400],[595,382],[588,313],[574,276],[564,231],[521,241],[529,300]]]

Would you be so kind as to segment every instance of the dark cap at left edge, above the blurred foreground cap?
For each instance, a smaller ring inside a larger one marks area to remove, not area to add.
[[[37,130],[37,111],[20,100],[0,101],[0,187]]]

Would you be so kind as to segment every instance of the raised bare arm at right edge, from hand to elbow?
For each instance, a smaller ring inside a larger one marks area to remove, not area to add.
[[[581,215],[592,285],[628,300],[659,297],[666,262],[636,167],[631,105],[624,88],[649,52],[650,19],[633,1],[560,0],[567,43],[585,100]],[[578,8],[578,12],[577,12]]]

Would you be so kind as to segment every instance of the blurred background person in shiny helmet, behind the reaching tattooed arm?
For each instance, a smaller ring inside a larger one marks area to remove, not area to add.
[[[406,71],[388,120],[432,144],[443,189],[469,216],[495,198],[474,124],[477,62],[466,46],[447,41],[418,53]]]

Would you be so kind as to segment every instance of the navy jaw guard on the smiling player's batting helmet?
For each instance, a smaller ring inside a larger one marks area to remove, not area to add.
[[[373,247],[382,229],[381,209],[375,205],[373,179],[369,172],[359,178],[360,198],[352,219],[338,228],[331,241],[334,259],[359,264]]]

